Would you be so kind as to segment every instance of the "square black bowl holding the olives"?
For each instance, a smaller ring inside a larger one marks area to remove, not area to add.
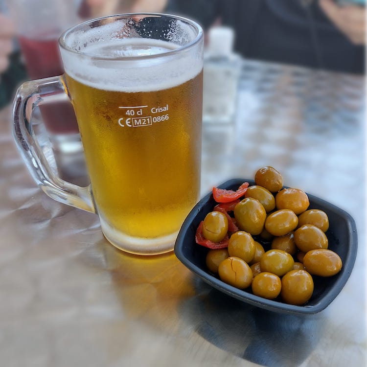
[[[250,185],[255,184],[253,180],[233,179],[218,187],[236,190],[244,182],[249,182]],[[337,275],[331,277],[323,278],[313,276],[313,295],[302,306],[283,303],[280,296],[275,300],[255,296],[252,294],[251,287],[246,290],[237,289],[224,283],[218,276],[211,274],[207,270],[205,257],[208,249],[195,242],[195,232],[199,223],[204,220],[206,214],[212,211],[216,204],[211,193],[200,200],[185,219],[176,240],[175,254],[188,269],[214,288],[231,297],[276,312],[289,314],[314,314],[320,312],[340,293],[351,274],[357,254],[357,231],[353,218],[344,210],[313,195],[308,194],[308,197],[310,200],[310,209],[318,208],[327,213],[330,222],[329,229],[326,232],[329,240],[328,248],[339,254],[343,261],[343,267]],[[263,245],[265,250],[270,248],[269,243],[263,242]]]

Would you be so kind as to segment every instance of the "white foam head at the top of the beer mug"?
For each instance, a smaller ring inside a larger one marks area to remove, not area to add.
[[[113,18],[94,27],[86,22],[64,33],[60,50],[69,76],[98,89],[147,92],[182,84],[202,70],[200,27],[180,19],[163,33],[166,41],[141,37],[129,23],[131,17]]]

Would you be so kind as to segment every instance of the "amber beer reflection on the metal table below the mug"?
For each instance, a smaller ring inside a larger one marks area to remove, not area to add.
[[[195,297],[195,289],[191,273],[175,254],[133,255],[116,249],[107,240],[97,246],[104,257],[104,264],[99,266],[110,274],[126,318],[176,335],[180,329],[180,305]]]

